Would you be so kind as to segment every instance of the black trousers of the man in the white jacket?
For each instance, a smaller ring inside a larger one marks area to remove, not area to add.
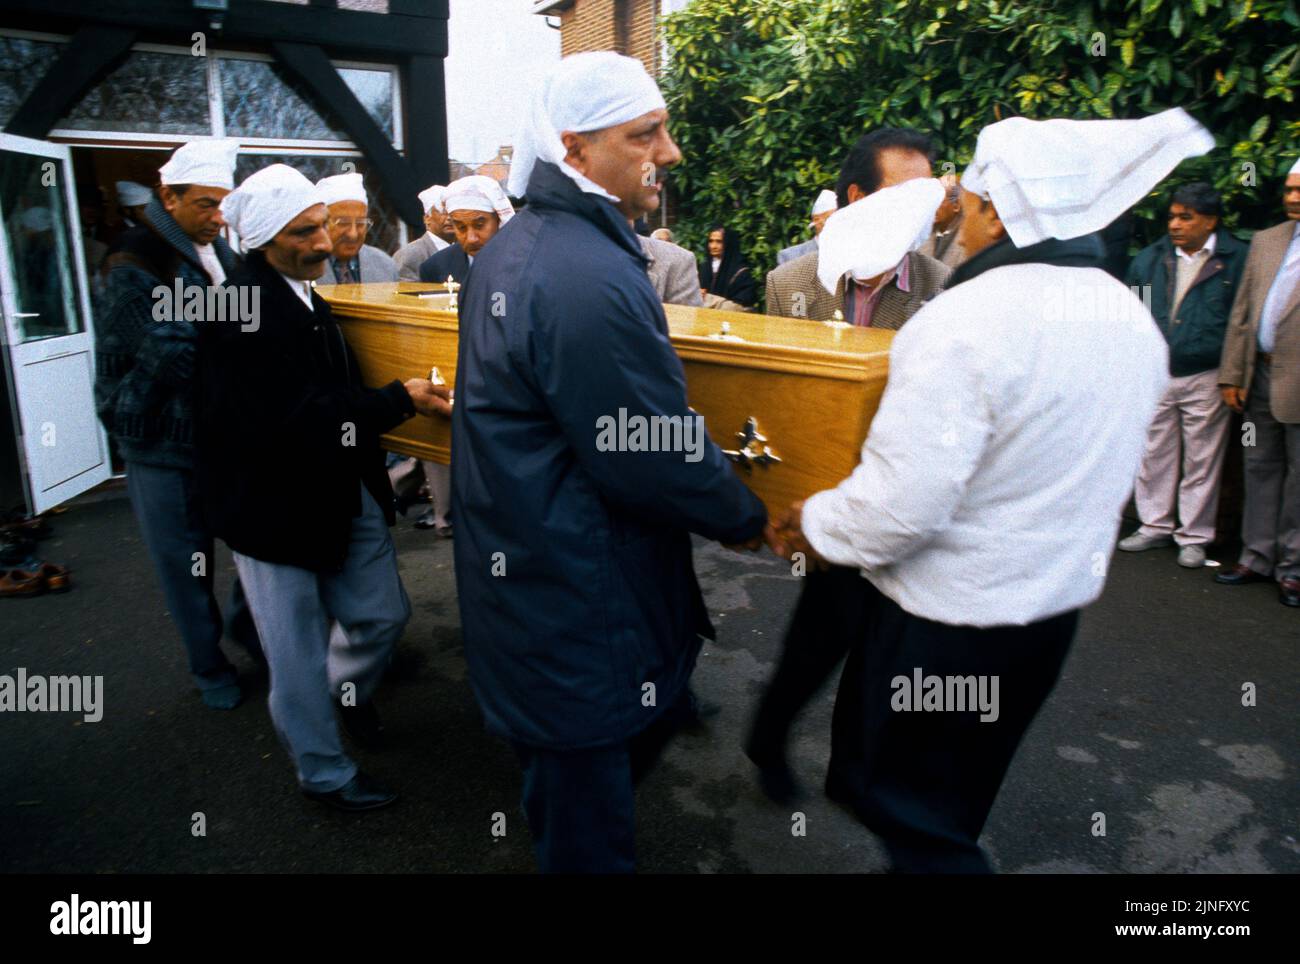
[[[827,793],[883,838],[898,870],[989,873],[980,831],[1056,686],[1079,611],[1027,626],[950,626],[913,616],[862,582],[864,631],[840,678]],[[926,677],[997,677],[996,721],[978,711],[896,709],[893,681],[913,679],[918,668]]]

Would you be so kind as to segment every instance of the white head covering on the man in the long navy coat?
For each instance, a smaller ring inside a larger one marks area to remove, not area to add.
[[[550,161],[588,194],[612,194],[564,164],[560,134],[586,134],[634,121],[664,107],[659,86],[633,57],[611,51],[575,53],[556,64],[533,91],[515,138],[510,192],[523,197],[537,161]]]

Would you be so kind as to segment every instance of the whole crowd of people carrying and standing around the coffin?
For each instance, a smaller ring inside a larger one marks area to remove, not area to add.
[[[853,474],[768,517],[712,443],[692,460],[597,444],[611,412],[689,417],[663,304],[731,300],[740,287],[714,282],[748,273],[724,229],[707,278],[634,230],[681,160],[667,122],[638,61],[567,57],[533,92],[508,195],[485,177],[430,187],[428,233],[395,257],[365,243],[359,174],[312,183],[276,164],[237,187],[221,140],[160,169],[109,256],[96,395],[194,679],[208,705],[239,703],[229,635],[269,669],[308,798],[396,799],[339,735],[382,739],[373,695],[411,613],[380,437],[451,418],[450,477],[428,469],[436,525],[454,517],[469,682],[523,767],[543,870],[634,869],[634,787],[697,712],[689,678],[714,635],[694,533],[815,564],[745,747],[763,790],[802,793],[786,735],[846,657],[827,794],[897,869],[987,872],[980,830],[1102,591],[1134,479],[1143,526],[1119,548],[1173,539],[1204,563],[1228,408],[1254,444],[1245,548],[1217,578],[1274,579],[1300,605],[1300,162],[1287,220],[1248,248],[1212,188],[1175,191],[1169,236],[1128,272],[1148,312],[1102,270],[1104,233],[1213,148],[1182,110],[1001,121],[959,183],[932,177],[924,134],[863,135],[812,205],[814,238],[768,273],[767,311],[897,330],[889,383]],[[259,325],[159,318],[152,292],[177,278],[259,290]],[[424,378],[363,385],[315,283],[448,278],[455,405]],[[1046,309],[1062,291],[1091,292],[1083,317]],[[307,501],[285,512],[283,479],[304,473]],[[194,564],[214,539],[238,570],[224,616]],[[897,712],[890,681],[919,668],[1001,679],[997,718]]]

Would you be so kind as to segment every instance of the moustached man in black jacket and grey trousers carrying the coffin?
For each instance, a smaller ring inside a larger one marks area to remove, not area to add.
[[[374,809],[396,798],[343,752],[334,712],[337,700],[348,733],[377,738],[370,698],[411,615],[380,435],[416,412],[450,414],[447,390],[420,378],[361,385],[312,291],[330,238],[311,181],[273,164],[221,210],[247,252],[230,283],[260,292],[261,317],[256,330],[211,323],[200,335],[200,491],[234,552],[299,786],[339,809]],[[290,511],[285,479],[299,474],[312,483]]]

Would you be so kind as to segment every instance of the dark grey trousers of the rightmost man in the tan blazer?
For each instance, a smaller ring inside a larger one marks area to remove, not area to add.
[[[1243,429],[1254,425],[1245,447],[1245,508],[1242,565],[1277,579],[1300,578],[1300,425],[1286,425],[1269,409],[1269,365],[1251,381]]]

